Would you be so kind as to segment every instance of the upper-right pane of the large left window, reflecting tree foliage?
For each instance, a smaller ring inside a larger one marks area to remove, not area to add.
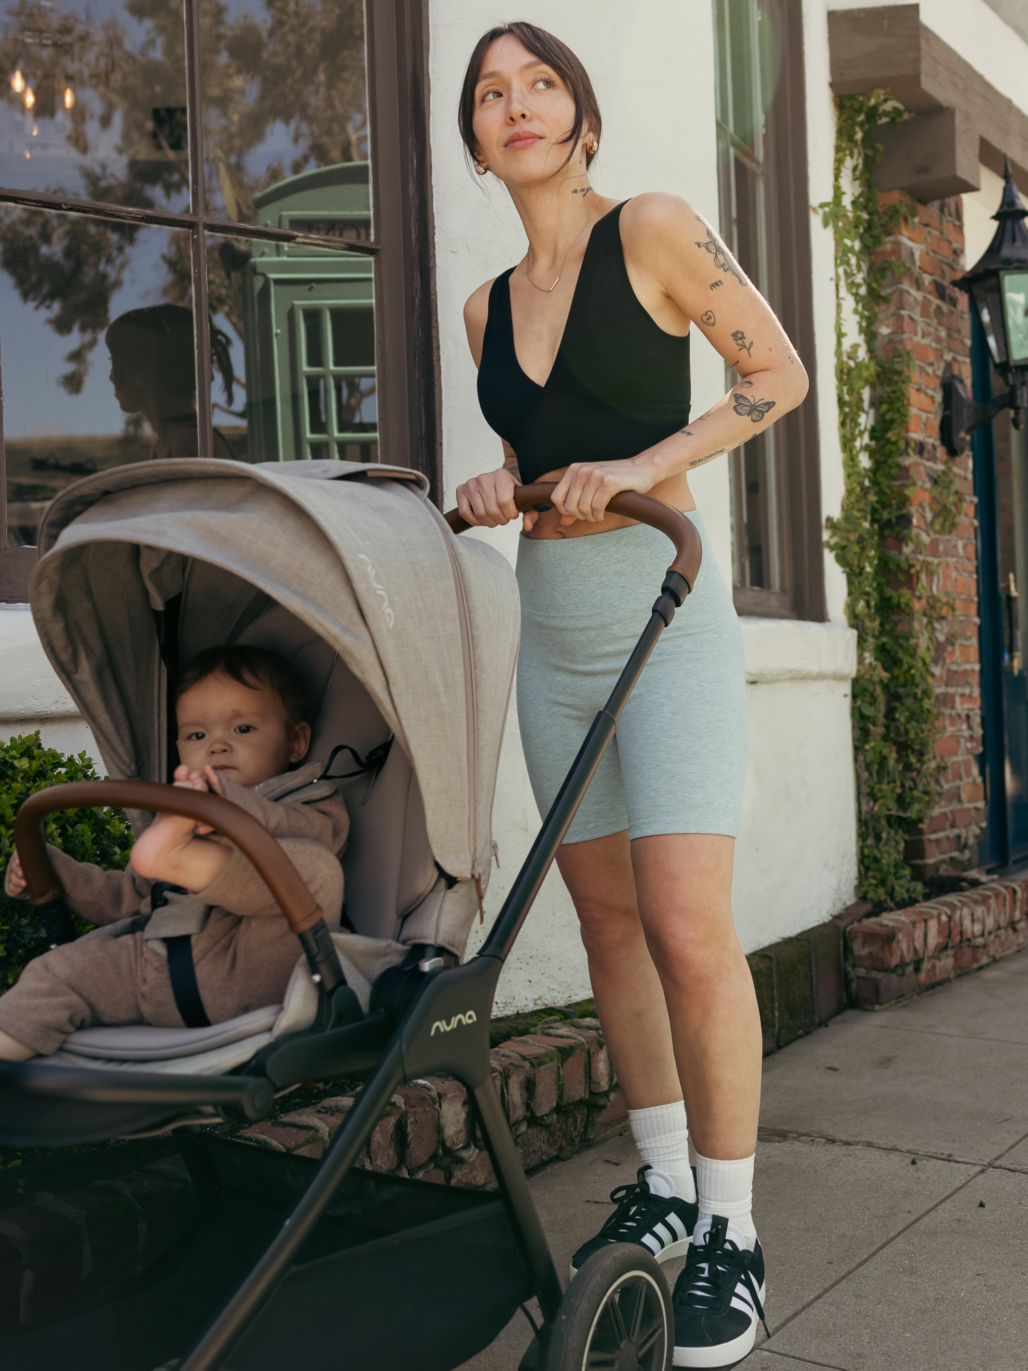
[[[367,159],[362,0],[200,0],[200,30],[211,213],[367,239],[370,207],[326,204],[318,178]],[[295,193],[303,174],[306,199]],[[288,204],[267,200],[284,181]]]

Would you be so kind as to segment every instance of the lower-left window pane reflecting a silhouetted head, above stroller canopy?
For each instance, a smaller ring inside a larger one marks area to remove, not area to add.
[[[189,273],[185,233],[0,207],[10,544],[82,476],[197,452]]]

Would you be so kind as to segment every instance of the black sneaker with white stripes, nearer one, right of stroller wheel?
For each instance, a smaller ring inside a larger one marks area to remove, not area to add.
[[[672,1366],[732,1367],[742,1361],[757,1341],[757,1320],[763,1323],[765,1293],[759,1242],[750,1252],[736,1226],[715,1215],[689,1248],[674,1282]]]

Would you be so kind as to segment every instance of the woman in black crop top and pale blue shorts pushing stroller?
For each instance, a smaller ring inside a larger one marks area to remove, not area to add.
[[[643,672],[558,865],[647,1164],[572,1272],[606,1242],[641,1242],[658,1260],[688,1249],[674,1364],[724,1366],[746,1356],[762,1318],[751,1216],[761,1024],[731,905],[747,742],[742,635],[688,472],[799,404],[806,373],[689,204],[661,192],[618,204],[592,188],[596,97],[552,34],[528,23],[484,34],[459,122],[476,171],[507,188],[528,252],[465,307],[504,461],[459,487],[458,507],[495,528],[518,517],[519,483],[558,483],[554,510],[524,517],[518,550],[518,717],[543,813],[668,563],[663,536],[607,503],[644,492],[685,511],[703,540],[694,592]],[[689,421],[694,324],[739,381]]]

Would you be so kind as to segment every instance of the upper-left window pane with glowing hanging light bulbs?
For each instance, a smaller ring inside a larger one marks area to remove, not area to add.
[[[0,185],[189,207],[181,0],[7,0]]]

